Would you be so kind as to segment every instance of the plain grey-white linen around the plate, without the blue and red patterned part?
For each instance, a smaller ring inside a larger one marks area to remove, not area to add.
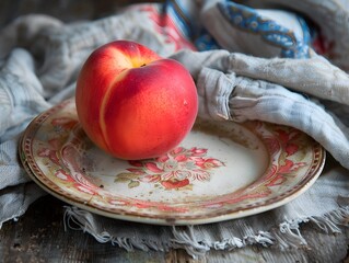
[[[155,9],[156,4],[153,4]],[[179,50],[137,8],[93,22],[63,24],[20,18],[0,35],[0,226],[45,195],[18,160],[18,141],[33,117],[74,94],[82,62],[97,46],[132,39],[183,62],[196,81],[199,115],[222,122],[260,119],[290,125],[336,159],[296,199],[260,215],[202,226],[159,227],[104,218],[67,206],[67,227],[127,250],[183,248],[193,256],[259,243],[281,250],[306,245],[300,224],[344,233],[349,217],[349,76],[311,53],[309,59],[258,58],[228,50]],[[25,32],[25,34],[23,34]],[[222,32],[224,34],[224,32]],[[321,259],[319,259],[321,260]]]

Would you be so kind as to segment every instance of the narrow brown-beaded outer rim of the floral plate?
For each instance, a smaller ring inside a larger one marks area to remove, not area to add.
[[[27,156],[25,150],[28,150],[27,141],[25,138],[27,138],[28,135],[36,134],[39,125],[43,121],[46,119],[51,115],[53,112],[57,112],[60,108],[63,108],[67,104],[69,104],[72,101],[72,99],[68,99],[51,108],[38,114],[26,127],[24,133],[22,134],[19,142],[19,156],[20,160],[23,164],[24,170],[30,175],[30,178],[43,190],[45,190],[47,193],[54,195],[55,197],[70,204],[74,205],[79,208],[90,210],[94,214],[102,215],[105,217],[114,218],[114,219],[120,219],[120,220],[128,220],[128,221],[136,221],[136,222],[146,222],[146,224],[154,224],[154,225],[164,225],[164,226],[181,226],[181,225],[202,225],[202,224],[211,224],[211,222],[218,222],[229,219],[237,219],[242,217],[247,217],[256,214],[260,214],[277,207],[280,207],[290,201],[296,198],[301,194],[303,194],[309,187],[311,187],[317,178],[321,175],[326,160],[326,150],[318,144],[317,144],[317,150],[318,150],[318,162],[316,162],[316,165],[313,164],[313,167],[310,165],[309,172],[306,176],[304,176],[295,186],[291,187],[287,192],[280,195],[277,195],[272,198],[268,198],[267,201],[256,201],[254,202],[254,205],[247,205],[246,207],[236,207],[236,208],[230,208],[230,209],[223,209],[220,213],[212,211],[207,213],[203,215],[196,215],[190,217],[189,215],[186,216],[178,216],[175,217],[171,216],[164,216],[164,215],[144,215],[142,213],[137,211],[129,211],[128,209],[120,209],[116,208],[114,211],[110,211],[110,209],[105,209],[101,206],[91,205],[89,202],[85,202],[81,199],[77,195],[72,195],[68,192],[63,192],[60,187],[57,185],[57,190],[49,187],[45,182],[43,182],[35,173],[35,170],[38,169],[27,161]],[[260,122],[260,121],[258,121]],[[267,123],[267,122],[260,122],[260,123]],[[284,126],[284,125],[279,125]],[[295,128],[294,128],[295,129]],[[303,133],[303,132],[301,132]],[[304,134],[304,133],[303,133]],[[309,136],[305,134],[305,136]],[[34,156],[34,155],[32,155]],[[38,169],[39,170],[39,169]],[[42,171],[38,171],[42,172]],[[42,172],[43,173],[43,172]],[[310,174],[311,173],[311,174]],[[51,180],[47,179],[51,183],[54,183]],[[93,196],[92,196],[93,198]],[[91,198],[91,199],[92,199]],[[91,201],[90,199],[90,201]],[[275,201],[274,201],[275,199]]]

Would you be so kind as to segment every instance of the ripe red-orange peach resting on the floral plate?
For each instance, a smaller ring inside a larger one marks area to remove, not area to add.
[[[198,98],[182,64],[138,43],[115,41],[84,62],[75,105],[95,145],[114,157],[138,160],[164,155],[185,138]]]

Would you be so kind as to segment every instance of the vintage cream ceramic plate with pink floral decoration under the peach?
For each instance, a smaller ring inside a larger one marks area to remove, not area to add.
[[[33,180],[58,198],[159,225],[214,222],[278,207],[309,188],[325,160],[324,149],[294,128],[198,121],[167,155],[123,161],[85,136],[73,99],[37,116],[20,151]]]

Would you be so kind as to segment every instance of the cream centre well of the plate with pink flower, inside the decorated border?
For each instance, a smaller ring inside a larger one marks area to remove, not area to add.
[[[233,193],[263,175],[269,163],[256,135],[212,121],[198,121],[177,148],[155,159],[119,160],[96,147],[80,158],[85,176],[112,195],[171,203]]]

